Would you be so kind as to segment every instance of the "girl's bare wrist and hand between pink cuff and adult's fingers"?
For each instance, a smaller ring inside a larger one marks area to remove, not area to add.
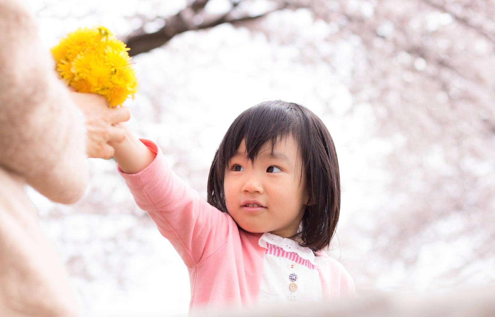
[[[123,123],[119,126],[125,130],[125,139],[122,143],[109,142],[115,149],[113,158],[126,174],[136,174],[143,171],[153,162],[156,154],[151,152],[132,131]]]

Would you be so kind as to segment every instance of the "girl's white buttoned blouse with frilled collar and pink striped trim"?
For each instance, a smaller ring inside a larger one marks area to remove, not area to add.
[[[259,306],[304,303],[322,300],[320,274],[316,267],[327,259],[317,257],[296,241],[263,233],[259,245],[266,249]]]

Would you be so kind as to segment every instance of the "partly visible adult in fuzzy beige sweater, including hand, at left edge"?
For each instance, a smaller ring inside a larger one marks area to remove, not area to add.
[[[104,144],[122,140],[112,124],[128,111],[108,112],[115,109],[98,96],[71,96],[19,2],[0,0],[0,316],[78,316],[65,268],[24,188],[54,202],[77,201],[88,182],[87,157],[111,156]],[[76,105],[92,114],[86,126]]]

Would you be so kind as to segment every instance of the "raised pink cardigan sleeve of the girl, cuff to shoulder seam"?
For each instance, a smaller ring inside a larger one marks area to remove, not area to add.
[[[141,141],[156,153],[156,158],[137,174],[125,174],[118,168],[119,173],[138,206],[148,213],[184,263],[190,268],[197,266],[225,244],[234,221],[179,179],[156,144]]]

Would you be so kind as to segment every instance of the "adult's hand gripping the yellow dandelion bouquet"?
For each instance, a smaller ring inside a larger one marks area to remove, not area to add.
[[[72,100],[86,117],[86,152],[88,157],[109,159],[114,149],[109,141],[121,143],[125,139],[124,129],[118,123],[131,117],[125,107],[108,108],[105,98],[95,93],[70,92]]]

